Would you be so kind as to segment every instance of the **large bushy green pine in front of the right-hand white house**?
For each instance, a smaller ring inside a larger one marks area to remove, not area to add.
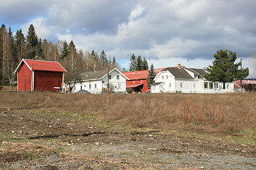
[[[234,63],[237,59],[235,52],[218,50],[217,54],[214,54],[213,57],[215,57],[213,66],[208,67],[210,74],[205,75],[207,80],[223,82],[223,88],[225,89],[226,82],[233,81],[234,79],[243,79],[248,76],[248,68],[238,71],[241,62]]]

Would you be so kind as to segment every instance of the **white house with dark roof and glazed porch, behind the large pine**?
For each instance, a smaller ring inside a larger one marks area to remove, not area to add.
[[[151,93],[201,93],[217,94],[234,91],[233,83],[212,82],[204,78],[205,69],[186,67],[168,67],[156,75],[151,85]]]

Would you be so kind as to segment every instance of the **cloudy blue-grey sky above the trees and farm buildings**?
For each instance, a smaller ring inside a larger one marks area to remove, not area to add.
[[[0,23],[38,38],[73,40],[83,51],[115,57],[129,68],[134,54],[155,68],[212,65],[218,50],[236,52],[253,73],[255,0],[0,0]]]

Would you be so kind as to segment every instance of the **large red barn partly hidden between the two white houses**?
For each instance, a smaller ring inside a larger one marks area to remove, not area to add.
[[[156,74],[158,74],[161,70],[162,69],[154,69]],[[129,80],[126,82],[127,89],[133,89],[133,91],[137,93],[147,93],[150,91],[150,89],[146,86],[146,77],[149,75],[149,70],[123,72],[123,74],[129,78]]]

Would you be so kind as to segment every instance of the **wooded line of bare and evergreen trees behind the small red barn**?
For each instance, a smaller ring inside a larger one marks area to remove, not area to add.
[[[7,30],[4,24],[0,28],[0,84],[11,84],[16,80],[13,74],[18,63],[22,59],[58,61],[68,71],[65,75],[65,81],[70,82],[79,80],[81,72],[93,72],[97,69],[107,69],[119,67],[115,57],[107,58],[104,50],[97,52],[82,52],[77,50],[75,43],[71,40],[58,41],[57,43],[48,42],[48,40],[38,38],[36,30],[31,24],[26,36],[21,29],[16,30],[15,35],[11,27]]]

